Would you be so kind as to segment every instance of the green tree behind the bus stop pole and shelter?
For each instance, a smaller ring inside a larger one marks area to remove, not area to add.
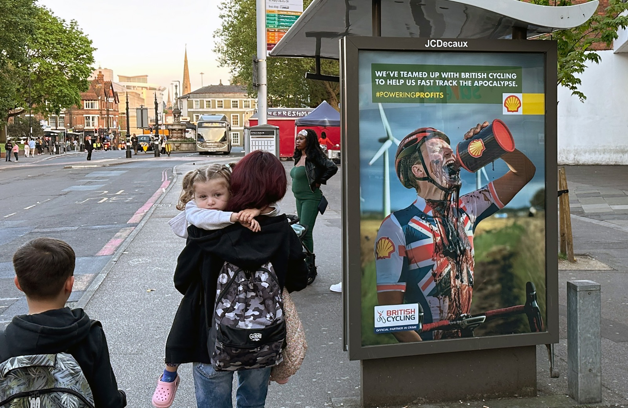
[[[311,0],[303,2],[303,8]],[[232,68],[230,82],[246,87],[255,95],[252,84],[252,57],[257,53],[256,1],[226,0],[219,6],[222,23],[214,33],[214,51],[221,66]],[[314,72],[313,58],[267,59],[269,107],[316,107],[327,102],[338,109],[340,87],[337,82],[306,80],[306,72]],[[338,75],[338,62],[322,60],[321,73]]]

